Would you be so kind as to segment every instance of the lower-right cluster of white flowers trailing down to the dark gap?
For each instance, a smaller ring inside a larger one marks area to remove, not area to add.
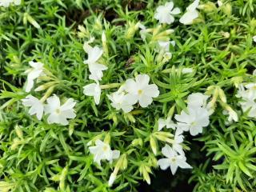
[[[158,165],[162,170],[166,170],[170,166],[172,174],[176,173],[178,167],[183,169],[192,168],[186,162],[186,156],[182,149],[184,131],[190,131],[190,134],[195,136],[202,133],[202,128],[209,125],[209,110],[207,107],[207,99],[205,94],[195,93],[190,94],[187,98],[187,108],[182,110],[181,114],[175,114],[174,118],[177,123],[174,123],[170,117],[158,119],[158,130],[162,130],[166,126],[167,129],[172,128],[175,131],[174,141],[172,146],[166,145],[162,148],[162,154],[166,158],[158,160]]]

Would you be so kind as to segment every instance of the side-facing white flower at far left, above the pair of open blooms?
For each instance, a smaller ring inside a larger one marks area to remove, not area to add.
[[[43,73],[43,63],[42,62],[29,62],[30,66],[32,66],[32,69],[26,70],[27,74],[27,82],[26,82],[26,92],[30,92],[30,90],[34,86],[34,80],[40,76],[42,76]]]

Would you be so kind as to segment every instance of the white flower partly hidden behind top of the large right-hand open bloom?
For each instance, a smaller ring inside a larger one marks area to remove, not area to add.
[[[206,107],[209,96],[201,93],[190,94],[187,98],[188,106],[202,106]]]

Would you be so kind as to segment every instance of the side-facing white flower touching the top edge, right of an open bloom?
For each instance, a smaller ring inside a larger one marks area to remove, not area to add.
[[[179,19],[179,22],[184,25],[190,25],[193,23],[195,18],[198,18],[199,14],[196,10],[199,6],[200,0],[195,0],[190,6],[186,8],[186,13],[182,15],[182,18]]]

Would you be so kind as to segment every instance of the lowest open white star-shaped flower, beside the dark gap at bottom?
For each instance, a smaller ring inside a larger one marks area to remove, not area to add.
[[[158,160],[158,166],[161,170],[166,170],[170,166],[172,174],[175,174],[178,167],[182,169],[191,169],[192,166],[186,162],[186,157],[183,154],[177,154],[170,146],[166,145],[162,148],[162,154],[166,158],[161,158]]]

